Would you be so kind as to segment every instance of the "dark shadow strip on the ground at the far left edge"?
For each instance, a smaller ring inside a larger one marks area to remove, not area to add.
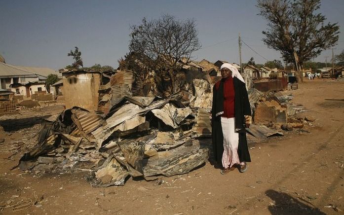
[[[19,118],[19,119],[6,119],[3,121],[0,121],[0,125],[3,127],[3,130],[5,132],[15,132],[20,129],[24,128],[30,128],[34,125],[41,124],[44,122],[45,118],[48,118],[49,115],[44,116],[34,116],[34,117],[28,117],[28,118]]]

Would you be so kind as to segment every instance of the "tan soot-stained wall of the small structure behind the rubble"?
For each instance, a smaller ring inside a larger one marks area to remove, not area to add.
[[[74,106],[97,110],[101,75],[99,73],[66,74],[63,77],[63,96],[66,108]]]

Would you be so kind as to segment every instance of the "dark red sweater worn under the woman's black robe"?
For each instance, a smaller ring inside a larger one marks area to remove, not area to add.
[[[220,81],[216,83],[216,89],[218,90]],[[234,85],[233,78],[229,76],[224,82],[224,114],[222,117],[232,118],[234,117]]]

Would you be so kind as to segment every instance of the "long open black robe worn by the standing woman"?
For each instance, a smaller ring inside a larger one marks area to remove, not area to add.
[[[219,89],[216,90],[216,84],[213,88],[213,106],[212,106],[212,141],[215,160],[222,164],[222,154],[224,152],[224,137],[221,126],[221,113],[223,113],[223,80],[220,80]],[[234,116],[235,131],[239,133],[238,155],[240,162],[251,162],[246,140],[245,115],[251,115],[251,106],[248,100],[248,94],[245,83],[237,77],[233,77],[234,85]]]

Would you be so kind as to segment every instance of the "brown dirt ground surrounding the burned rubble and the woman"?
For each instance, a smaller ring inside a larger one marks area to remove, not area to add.
[[[0,206],[42,200],[3,214],[344,214],[344,81],[306,80],[293,103],[313,116],[301,131],[251,143],[247,172],[221,175],[209,162],[189,174],[124,186],[94,188],[87,172],[36,175],[18,168],[22,153],[35,145],[43,118],[62,106],[0,116]],[[209,144],[210,140],[209,140]],[[18,152],[17,152],[18,151]],[[35,197],[36,196],[36,197]],[[12,200],[12,201],[11,201]],[[24,210],[25,209],[25,210]]]

